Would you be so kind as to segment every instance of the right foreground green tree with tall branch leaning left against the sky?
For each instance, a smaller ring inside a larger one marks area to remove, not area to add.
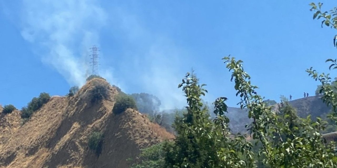
[[[280,118],[263,103],[262,97],[255,91],[257,86],[251,85],[250,76],[243,71],[243,61],[236,61],[234,57],[223,59],[226,67],[232,71],[237,95],[241,97],[239,104],[241,108],[249,110],[248,117],[253,119],[248,128],[253,139],[262,144],[259,155],[265,157],[264,164],[270,167],[336,167],[335,145],[325,144],[319,134],[324,129],[321,119],[312,122],[308,116],[299,121],[293,120],[290,118],[293,115],[291,109]]]

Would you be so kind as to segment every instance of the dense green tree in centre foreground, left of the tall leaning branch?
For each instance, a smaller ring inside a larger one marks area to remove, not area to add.
[[[207,92],[203,86],[189,73],[178,86],[185,92],[187,113],[175,119],[174,144],[164,143],[165,167],[255,167],[251,144],[243,136],[230,138],[229,119],[224,115],[226,98],[219,97],[214,102],[217,118],[212,121],[207,106],[202,103],[201,96]]]

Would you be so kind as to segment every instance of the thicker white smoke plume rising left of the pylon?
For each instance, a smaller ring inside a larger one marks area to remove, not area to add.
[[[69,84],[82,86],[88,75],[87,50],[98,44],[106,14],[95,0],[24,0],[22,36]],[[91,24],[92,23],[92,24]],[[98,44],[99,45],[99,44]]]

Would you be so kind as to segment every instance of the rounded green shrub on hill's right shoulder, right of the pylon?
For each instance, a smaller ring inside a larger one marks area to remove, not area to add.
[[[131,96],[119,94],[112,111],[116,114],[123,113],[126,109],[131,108],[137,110],[136,102]]]

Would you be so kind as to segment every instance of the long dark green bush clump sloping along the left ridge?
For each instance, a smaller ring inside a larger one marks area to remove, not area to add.
[[[27,107],[21,109],[21,118],[27,119],[31,115],[39,110],[43,104],[47,103],[50,100],[49,93],[42,92],[39,97],[33,97],[32,100],[28,103]]]

